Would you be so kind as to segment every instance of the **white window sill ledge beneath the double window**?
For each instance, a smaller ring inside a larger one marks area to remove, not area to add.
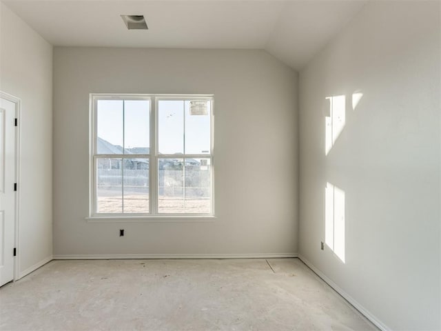
[[[210,223],[214,215],[90,216],[88,223]]]

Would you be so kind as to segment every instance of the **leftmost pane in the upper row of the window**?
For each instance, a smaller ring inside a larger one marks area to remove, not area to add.
[[[123,153],[123,101],[99,100],[96,109],[96,152]]]

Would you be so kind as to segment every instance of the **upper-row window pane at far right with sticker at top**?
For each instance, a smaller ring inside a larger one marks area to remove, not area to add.
[[[210,101],[185,101],[185,154],[210,153]]]

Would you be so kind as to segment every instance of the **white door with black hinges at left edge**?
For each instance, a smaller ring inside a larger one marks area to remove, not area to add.
[[[15,106],[0,97],[0,286],[14,279]]]

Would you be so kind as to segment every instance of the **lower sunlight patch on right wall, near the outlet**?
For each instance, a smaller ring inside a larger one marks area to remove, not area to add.
[[[331,183],[325,188],[325,243],[345,263],[345,191]]]

